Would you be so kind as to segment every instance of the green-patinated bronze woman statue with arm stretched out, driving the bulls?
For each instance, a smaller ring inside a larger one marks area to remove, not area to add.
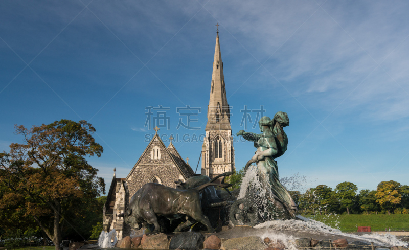
[[[254,146],[257,148],[245,170],[250,164],[257,163],[258,176],[261,184],[267,189],[268,200],[276,207],[275,210],[282,214],[282,217],[295,219],[297,205],[280,183],[277,162],[274,160],[287,150],[288,138],[283,128],[289,123],[287,113],[277,112],[272,120],[269,117],[260,119],[261,134],[240,130],[237,136],[241,135],[247,141],[254,142]]]

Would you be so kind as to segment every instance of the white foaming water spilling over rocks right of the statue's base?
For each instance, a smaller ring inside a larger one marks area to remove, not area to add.
[[[294,231],[305,231],[308,232],[321,232],[326,234],[332,234],[339,236],[339,238],[348,237],[353,238],[359,241],[365,242],[374,242],[375,245],[381,246],[402,246],[406,245],[407,243],[400,241],[396,238],[395,235],[391,234],[363,234],[363,235],[355,235],[355,234],[347,234],[343,233],[338,229],[333,229],[330,226],[316,220],[308,219],[303,216],[297,216],[301,220],[275,220],[275,221],[267,221],[261,224],[254,226],[256,229],[267,229],[267,228],[280,228],[280,229],[291,229]],[[279,239],[281,240],[289,249],[295,250],[296,247],[291,243],[291,240],[294,239],[293,236],[288,236],[287,234],[273,234],[266,231],[260,235],[260,238],[264,239],[265,237],[269,237],[270,239]]]

